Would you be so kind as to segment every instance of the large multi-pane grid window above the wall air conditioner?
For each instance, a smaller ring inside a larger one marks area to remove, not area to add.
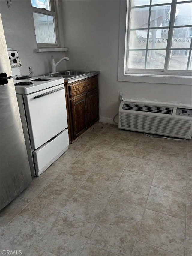
[[[126,10],[121,8],[120,40],[125,40],[125,51],[122,55],[119,48],[119,77],[190,76],[191,9],[191,1],[127,1]],[[122,47],[122,42],[119,45]]]

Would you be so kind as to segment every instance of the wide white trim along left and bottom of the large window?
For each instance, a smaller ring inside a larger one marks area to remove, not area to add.
[[[131,71],[126,74],[126,51],[127,51],[127,37],[128,26],[126,24],[127,14],[127,1],[121,1],[120,6],[120,28],[119,28],[119,70],[118,70],[118,81],[125,82],[143,82],[143,83],[167,83],[167,84],[181,84],[191,85],[191,76],[183,76],[181,74],[176,75],[165,75],[165,74],[138,74]],[[152,73],[152,72],[151,72]]]

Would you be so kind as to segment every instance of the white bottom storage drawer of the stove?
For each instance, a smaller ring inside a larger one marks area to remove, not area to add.
[[[54,139],[33,152],[36,175],[43,173],[69,146],[68,130],[65,129]]]

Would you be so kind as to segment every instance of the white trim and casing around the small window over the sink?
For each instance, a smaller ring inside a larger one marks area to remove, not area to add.
[[[46,49],[46,48],[64,48],[64,38],[63,38],[63,23],[61,19],[61,1],[50,1],[50,7],[51,10],[44,10],[41,8],[36,8],[32,6],[32,11],[41,13],[41,14],[47,14],[47,15],[53,15],[54,19],[54,26],[55,26],[55,39],[56,39],[56,44],[40,44],[37,43],[37,48],[38,49]],[[36,38],[36,35],[35,35]],[[65,48],[65,50],[68,50]],[[41,51],[41,50],[40,50]],[[39,52],[40,52],[39,51]],[[37,51],[38,52],[38,51]]]

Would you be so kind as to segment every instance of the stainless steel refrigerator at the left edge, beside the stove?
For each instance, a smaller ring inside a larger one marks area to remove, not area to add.
[[[0,14],[0,210],[32,181]]]

